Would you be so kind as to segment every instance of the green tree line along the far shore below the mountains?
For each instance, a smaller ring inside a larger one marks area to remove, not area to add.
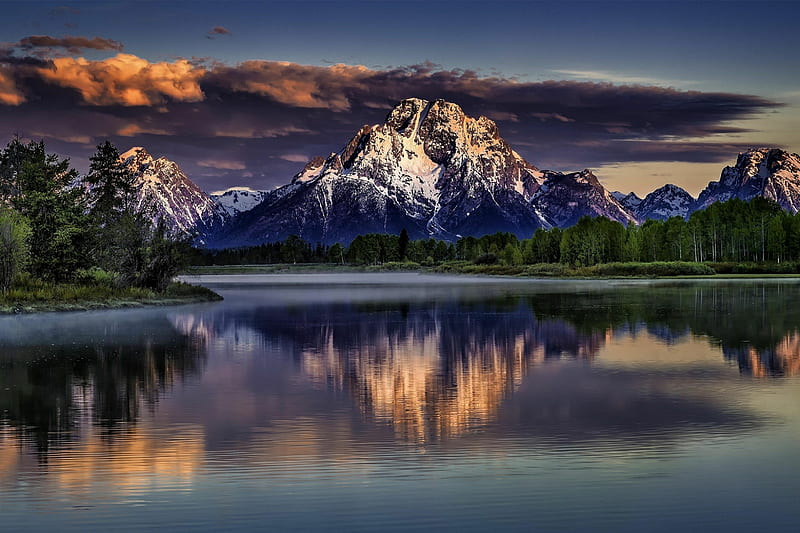
[[[561,263],[593,266],[614,262],[756,262],[800,261],[800,214],[776,202],[717,202],[688,219],[672,217],[628,225],[606,217],[583,217],[572,227],[538,229],[529,239],[512,233],[463,237],[455,243],[436,239],[410,241],[400,235],[367,234],[349,246],[313,245],[293,235],[281,242],[251,248],[197,252],[195,264],[348,263],[374,265],[411,261],[525,265]]]

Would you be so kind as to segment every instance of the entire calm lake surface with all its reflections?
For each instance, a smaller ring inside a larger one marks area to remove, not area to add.
[[[0,318],[0,530],[800,530],[800,284],[219,276]]]

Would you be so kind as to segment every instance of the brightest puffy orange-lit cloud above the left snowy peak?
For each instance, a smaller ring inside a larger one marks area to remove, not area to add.
[[[205,70],[185,59],[151,63],[131,54],[102,61],[61,57],[53,60],[52,69],[41,68],[39,73],[52,84],[77,90],[91,105],[152,106],[203,99],[200,78]]]

